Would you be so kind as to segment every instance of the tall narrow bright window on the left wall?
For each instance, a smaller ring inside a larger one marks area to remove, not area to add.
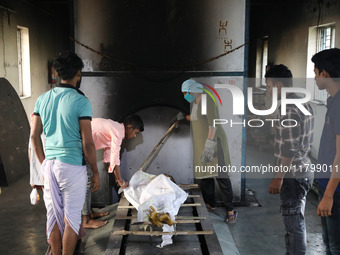
[[[17,27],[19,96],[31,96],[31,68],[28,28]]]

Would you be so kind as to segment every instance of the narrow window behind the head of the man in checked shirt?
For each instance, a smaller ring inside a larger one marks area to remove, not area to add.
[[[256,52],[256,87],[266,85],[264,75],[268,64],[268,37],[265,36],[257,41]]]

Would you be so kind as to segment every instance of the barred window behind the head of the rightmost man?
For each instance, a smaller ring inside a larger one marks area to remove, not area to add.
[[[326,104],[328,93],[326,90],[319,90],[314,80],[314,64],[312,56],[322,50],[334,48],[335,23],[309,28],[308,33],[308,59],[307,59],[307,84],[306,88],[311,91],[312,99],[316,102]]]

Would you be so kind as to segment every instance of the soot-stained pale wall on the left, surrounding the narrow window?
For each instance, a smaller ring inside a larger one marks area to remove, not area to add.
[[[22,99],[22,104],[30,115],[40,94],[46,92],[48,84],[47,63],[56,52],[68,46],[68,38],[58,38],[60,31],[52,14],[35,7],[28,1],[10,1],[15,13],[0,9],[0,76],[6,78],[19,93],[19,71],[17,51],[17,26],[29,29],[31,96]],[[64,42],[63,42],[64,41]],[[65,43],[66,42],[66,43]],[[59,45],[59,46],[58,46]]]

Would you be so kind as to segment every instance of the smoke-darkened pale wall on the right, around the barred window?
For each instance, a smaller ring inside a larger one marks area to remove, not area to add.
[[[292,3],[277,1],[276,4],[260,5],[258,8],[255,6],[252,9],[251,40],[268,36],[268,60],[274,64],[288,66],[294,78],[298,78],[294,81],[294,86],[305,87],[301,81],[306,78],[307,63],[311,61],[308,56],[308,32],[310,27],[317,25],[319,10],[320,25],[335,22],[335,47],[340,47],[340,1],[323,1],[321,9],[318,2],[317,0],[292,1]],[[256,52],[251,53],[250,69],[254,69],[256,63],[254,55]],[[255,74],[255,71],[251,70],[250,73]],[[315,116],[312,156],[317,158],[326,107],[311,104]]]

